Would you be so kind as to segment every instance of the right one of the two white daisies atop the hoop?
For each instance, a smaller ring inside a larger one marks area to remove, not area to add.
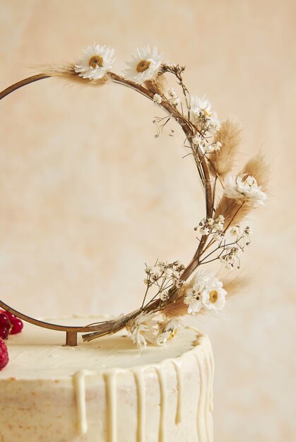
[[[136,56],[131,61],[127,61],[129,66],[124,70],[124,76],[137,84],[144,83],[146,80],[155,78],[163,56],[156,47],[150,49],[150,46],[137,48]]]

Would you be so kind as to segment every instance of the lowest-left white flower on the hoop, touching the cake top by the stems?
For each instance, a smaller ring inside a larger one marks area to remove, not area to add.
[[[131,340],[138,347],[146,347],[147,342],[155,342],[158,322],[154,313],[140,313],[126,325]]]

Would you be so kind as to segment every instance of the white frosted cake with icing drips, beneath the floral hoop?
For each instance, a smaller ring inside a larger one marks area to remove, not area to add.
[[[100,318],[54,323],[85,325]],[[213,441],[213,354],[183,328],[138,349],[124,331],[65,347],[65,334],[25,323],[0,371],[1,442]]]

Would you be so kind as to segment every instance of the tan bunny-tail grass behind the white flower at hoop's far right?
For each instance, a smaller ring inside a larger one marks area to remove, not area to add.
[[[261,186],[262,191],[266,191],[268,185],[269,166],[267,165],[264,155],[259,153],[255,157],[251,158],[241,172],[241,174],[249,174],[257,181],[258,186]],[[225,217],[225,227],[231,227],[237,225],[239,222],[251,213],[254,209],[254,205],[247,200],[239,200],[234,198],[228,198],[223,194],[218,207],[215,210],[215,216],[223,215]]]

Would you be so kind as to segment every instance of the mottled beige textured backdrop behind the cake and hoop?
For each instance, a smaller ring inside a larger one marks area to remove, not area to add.
[[[215,352],[215,441],[295,441],[295,2],[0,5],[1,89],[93,42],[116,48],[120,71],[149,42],[187,65],[189,90],[220,117],[242,121],[246,155],[264,150],[272,197],[242,263],[254,283],[198,324]],[[118,85],[51,79],[1,102],[1,299],[37,316],[121,313],[141,300],[145,261],[189,261],[201,186],[177,126],[154,138],[156,112]]]

